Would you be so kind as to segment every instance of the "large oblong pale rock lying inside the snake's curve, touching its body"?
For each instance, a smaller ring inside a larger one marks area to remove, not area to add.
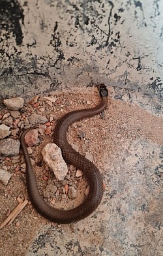
[[[42,150],[42,156],[58,180],[64,180],[67,175],[68,168],[65,163],[61,149],[54,143],[47,144]]]

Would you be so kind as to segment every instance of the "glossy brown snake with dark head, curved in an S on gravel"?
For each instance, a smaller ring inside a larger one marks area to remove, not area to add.
[[[76,152],[67,141],[67,129],[75,121],[82,120],[83,118],[88,118],[95,116],[104,110],[108,103],[108,90],[104,84],[100,84],[99,93],[101,97],[100,103],[94,108],[87,108],[83,110],[75,110],[65,114],[59,121],[54,130],[53,142],[61,148],[63,158],[67,163],[74,165],[74,167],[83,171],[83,174],[87,177],[89,181],[89,195],[87,198],[77,206],[76,208],[70,210],[59,210],[53,208],[44,201],[42,195],[38,191],[37,179],[35,176],[35,171],[31,164],[29,153],[27,151],[27,146],[25,145],[24,137],[29,131],[29,129],[35,129],[31,127],[25,130],[21,137],[20,143],[23,150],[23,155],[26,163],[26,180],[27,180],[27,191],[29,193],[29,199],[33,204],[33,207],[46,219],[50,219],[55,223],[72,223],[74,221],[79,221],[87,216],[89,216],[100,204],[103,195],[103,180],[98,168],[88,159]]]

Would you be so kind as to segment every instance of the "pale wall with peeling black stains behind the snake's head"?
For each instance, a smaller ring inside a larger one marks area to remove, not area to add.
[[[163,1],[0,0],[1,97],[56,88],[162,94]]]

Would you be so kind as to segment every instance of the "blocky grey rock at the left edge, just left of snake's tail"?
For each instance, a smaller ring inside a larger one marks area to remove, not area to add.
[[[19,140],[13,140],[12,138],[4,138],[3,140],[0,140],[0,155],[18,155],[19,151]]]

